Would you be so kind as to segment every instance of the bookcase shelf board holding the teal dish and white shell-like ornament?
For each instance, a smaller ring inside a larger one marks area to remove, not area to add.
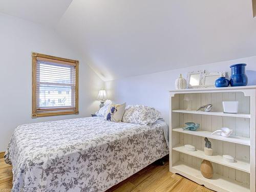
[[[250,138],[249,137],[240,137],[240,136],[235,136],[235,135],[231,135],[229,137],[223,137],[220,135],[212,135],[211,132],[207,132],[207,131],[188,131],[188,130],[183,130],[183,128],[178,128],[178,127],[173,129],[173,131],[250,146]]]

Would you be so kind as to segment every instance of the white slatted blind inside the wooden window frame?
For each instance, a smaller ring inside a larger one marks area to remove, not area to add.
[[[40,110],[75,109],[76,68],[51,59],[36,60],[36,105]]]

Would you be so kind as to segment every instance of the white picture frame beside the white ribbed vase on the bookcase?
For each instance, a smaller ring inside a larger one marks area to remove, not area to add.
[[[202,77],[204,70],[200,71],[190,71],[187,73],[187,88],[200,88],[202,84]]]

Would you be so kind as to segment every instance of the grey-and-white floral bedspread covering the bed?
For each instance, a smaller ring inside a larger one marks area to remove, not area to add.
[[[13,191],[105,191],[168,154],[163,128],[87,117],[18,126]]]

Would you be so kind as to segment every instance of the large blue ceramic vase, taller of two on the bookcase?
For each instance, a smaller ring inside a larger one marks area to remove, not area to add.
[[[231,76],[230,76],[230,84],[233,87],[236,86],[246,86],[248,82],[248,78],[245,74],[245,63],[236,64],[230,66],[231,68]]]

